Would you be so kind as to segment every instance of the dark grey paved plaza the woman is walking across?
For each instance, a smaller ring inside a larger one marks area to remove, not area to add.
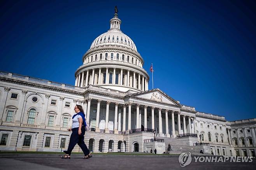
[[[58,154],[0,154],[0,170],[169,170],[169,169],[255,169],[256,159],[251,163],[195,163],[181,167],[178,156],[140,155],[93,155],[84,160],[74,154],[71,159],[61,159]]]

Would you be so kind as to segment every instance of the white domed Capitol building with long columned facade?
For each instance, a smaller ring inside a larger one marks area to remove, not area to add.
[[[105,21],[104,21],[105,22]],[[139,48],[139,47],[138,47]],[[84,108],[93,153],[150,152],[254,156],[256,118],[228,121],[156,88],[117,12],[82,56],[74,86],[0,71],[0,151],[67,149],[74,107]],[[201,144],[202,142],[202,144]],[[75,146],[74,151],[81,152]]]

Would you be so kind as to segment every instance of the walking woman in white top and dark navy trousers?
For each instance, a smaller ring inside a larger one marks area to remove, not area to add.
[[[79,147],[81,147],[83,153],[84,153],[84,159],[89,159],[92,157],[91,153],[89,153],[89,149],[84,143],[84,133],[85,133],[85,127],[86,127],[86,121],[85,121],[85,115],[84,110],[82,109],[82,106],[76,105],[75,106],[75,115],[72,117],[72,128],[69,128],[68,130],[72,130],[72,134],[70,136],[69,144],[68,144],[68,150],[63,151],[66,153],[61,158],[68,158],[70,159],[70,154],[72,150],[74,149],[75,145],[78,144]]]

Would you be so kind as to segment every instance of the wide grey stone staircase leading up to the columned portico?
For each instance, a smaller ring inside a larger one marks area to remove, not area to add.
[[[209,155],[200,153],[203,146],[189,146],[187,142],[181,141],[179,138],[157,137],[156,139],[163,139],[165,141],[166,150],[168,148],[168,144],[170,144],[172,148],[170,151],[171,154],[190,152],[192,155]]]

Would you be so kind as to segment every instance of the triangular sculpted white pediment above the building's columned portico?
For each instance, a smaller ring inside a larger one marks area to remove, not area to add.
[[[164,102],[172,105],[180,105],[177,101],[169,97],[167,94],[165,94],[158,88],[145,92],[135,93],[130,96],[140,99],[147,99],[151,101]]]

